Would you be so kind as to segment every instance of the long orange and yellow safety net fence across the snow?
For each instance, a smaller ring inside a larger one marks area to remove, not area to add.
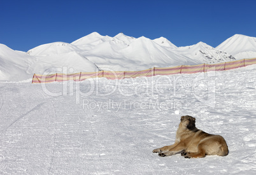
[[[52,83],[55,81],[83,81],[89,78],[107,78],[109,80],[136,78],[141,76],[156,76],[170,74],[192,74],[209,71],[225,71],[256,64],[255,59],[242,59],[218,64],[199,64],[194,66],[175,66],[175,67],[153,67],[143,71],[98,71],[94,73],[75,73],[75,74],[34,74],[32,83]]]

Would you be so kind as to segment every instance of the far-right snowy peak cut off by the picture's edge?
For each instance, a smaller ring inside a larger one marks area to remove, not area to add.
[[[217,49],[231,54],[236,59],[252,59],[256,57],[256,38],[235,34],[218,45]]]

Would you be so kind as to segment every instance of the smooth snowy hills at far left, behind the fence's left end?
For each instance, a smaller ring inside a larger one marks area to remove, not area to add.
[[[57,49],[52,49],[57,47]],[[23,81],[31,79],[34,73],[77,73],[96,72],[98,67],[78,52],[69,50],[68,45],[43,45],[41,52],[36,48],[31,50],[31,55],[25,52],[11,50],[8,46],[0,44],[0,80]],[[66,47],[68,46],[68,47]],[[59,48],[61,49],[59,49]],[[62,48],[63,47],[63,48]],[[57,54],[56,52],[62,51]],[[37,52],[38,51],[38,52]],[[42,55],[36,55],[42,54]],[[46,55],[48,54],[48,55]]]

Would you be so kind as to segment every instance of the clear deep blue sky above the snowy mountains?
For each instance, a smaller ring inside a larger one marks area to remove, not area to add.
[[[255,0],[1,0],[0,43],[27,50],[91,32],[213,47],[234,34],[256,37]]]

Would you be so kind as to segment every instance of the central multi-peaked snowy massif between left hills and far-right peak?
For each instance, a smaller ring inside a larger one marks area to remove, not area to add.
[[[93,39],[94,37],[96,39]],[[90,46],[90,42],[94,45]],[[151,40],[144,36],[132,38],[123,33],[111,38],[93,32],[88,37],[78,39],[72,44],[81,50],[86,48],[80,54],[101,69],[113,71],[140,71],[150,67],[213,64],[234,60],[232,55],[202,44],[202,42],[194,46],[178,48],[163,37]],[[188,50],[187,48],[190,47],[192,49]]]

